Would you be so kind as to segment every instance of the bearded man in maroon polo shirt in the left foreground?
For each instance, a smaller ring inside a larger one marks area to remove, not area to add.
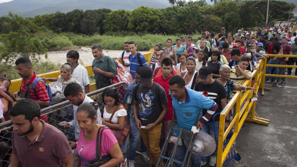
[[[10,166],[73,167],[74,158],[64,133],[40,120],[40,106],[22,99],[9,111],[14,124]]]

